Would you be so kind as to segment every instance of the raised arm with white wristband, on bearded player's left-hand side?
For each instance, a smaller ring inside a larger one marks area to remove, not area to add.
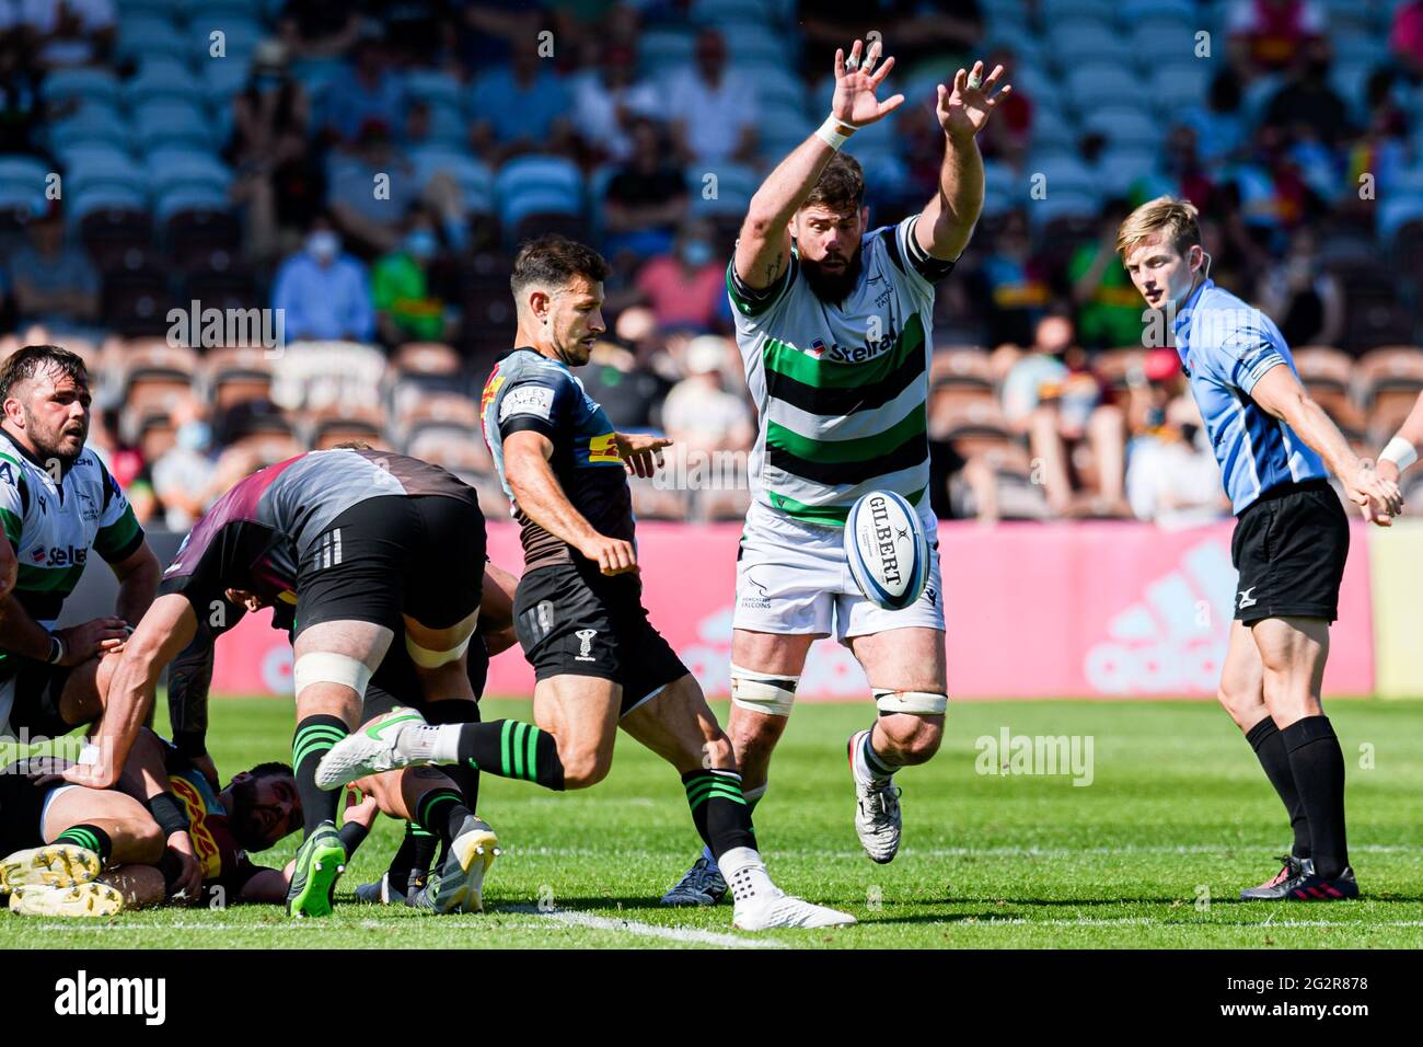
[[[902,94],[885,101],[875,98],[875,91],[894,68],[894,58],[885,58],[877,70],[879,41],[869,44],[864,64],[859,60],[862,47],[864,43],[857,40],[850,48],[848,60],[844,48],[837,48],[835,94],[830,103],[830,117],[815,134],[777,164],[751,197],[734,259],[737,279],[748,288],[768,288],[785,272],[791,254],[788,222],[815,188],[835,151],[858,128],[881,120],[904,103]]]

